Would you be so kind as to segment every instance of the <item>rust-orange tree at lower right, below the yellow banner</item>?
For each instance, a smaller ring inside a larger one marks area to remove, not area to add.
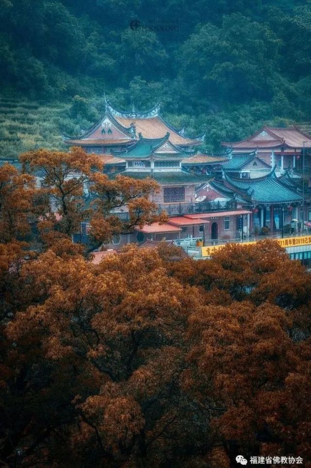
[[[189,318],[184,385],[229,466],[240,453],[301,456],[311,466],[310,273],[273,241],[228,245],[175,270],[205,296]]]

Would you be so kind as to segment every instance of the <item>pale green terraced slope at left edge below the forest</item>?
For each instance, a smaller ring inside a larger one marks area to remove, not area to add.
[[[0,158],[41,147],[64,149],[60,121],[67,107],[0,97]]]

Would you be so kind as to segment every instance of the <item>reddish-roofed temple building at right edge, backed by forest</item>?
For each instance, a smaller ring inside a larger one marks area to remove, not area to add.
[[[232,148],[233,156],[235,153],[257,151],[258,158],[271,167],[276,166],[277,174],[281,175],[285,169],[303,169],[303,150],[311,149],[311,136],[296,126],[263,126],[246,140],[222,145]],[[304,168],[310,169],[309,153],[310,151],[306,152]]]

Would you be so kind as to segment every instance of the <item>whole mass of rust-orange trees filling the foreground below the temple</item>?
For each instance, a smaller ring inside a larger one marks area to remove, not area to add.
[[[310,273],[273,241],[99,265],[72,246],[0,244],[4,467],[308,467]]]

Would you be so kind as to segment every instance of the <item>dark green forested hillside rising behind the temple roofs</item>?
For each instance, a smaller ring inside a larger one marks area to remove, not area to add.
[[[0,0],[0,30],[2,157],[60,148],[104,92],[120,108],[160,101],[208,151],[311,117],[309,1]]]

